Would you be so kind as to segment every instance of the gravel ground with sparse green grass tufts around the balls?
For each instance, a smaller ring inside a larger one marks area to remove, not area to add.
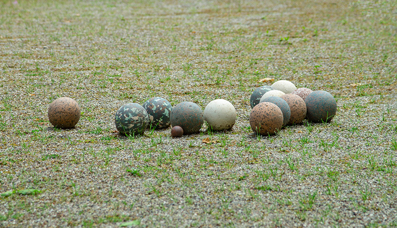
[[[0,12],[0,227],[397,227],[395,0],[6,0]],[[326,90],[337,113],[258,137],[262,78]],[[82,110],[73,129],[48,121],[63,96]],[[202,110],[226,99],[237,121],[119,135],[119,107],[154,96]]]

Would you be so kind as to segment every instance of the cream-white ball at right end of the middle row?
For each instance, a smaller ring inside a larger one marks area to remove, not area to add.
[[[203,113],[208,128],[212,130],[229,130],[236,122],[236,109],[223,99],[216,99],[208,103]]]

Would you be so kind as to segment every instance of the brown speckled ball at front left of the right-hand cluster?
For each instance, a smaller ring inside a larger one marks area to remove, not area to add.
[[[275,134],[281,129],[283,120],[280,108],[270,102],[259,103],[250,114],[251,129],[261,135]]]

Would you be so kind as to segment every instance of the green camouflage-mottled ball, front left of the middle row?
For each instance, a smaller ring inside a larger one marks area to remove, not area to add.
[[[141,105],[129,103],[116,112],[115,123],[120,134],[142,135],[149,125],[149,117]]]

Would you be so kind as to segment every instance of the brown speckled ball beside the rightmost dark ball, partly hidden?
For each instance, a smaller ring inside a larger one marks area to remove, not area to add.
[[[281,96],[284,99],[291,110],[291,117],[289,118],[288,124],[299,124],[306,117],[306,103],[305,101],[296,94],[285,94]]]

